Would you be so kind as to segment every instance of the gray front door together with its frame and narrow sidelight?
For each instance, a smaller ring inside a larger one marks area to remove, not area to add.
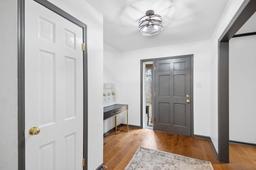
[[[153,130],[191,136],[193,128],[193,55],[142,60],[144,126],[148,128],[147,116],[150,104],[147,103],[147,68],[152,64],[151,113]],[[149,65],[149,66],[147,66]],[[142,117],[142,116],[141,116]]]

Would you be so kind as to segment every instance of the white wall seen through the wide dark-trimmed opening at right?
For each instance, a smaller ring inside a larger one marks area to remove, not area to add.
[[[229,41],[229,139],[256,143],[256,35]]]

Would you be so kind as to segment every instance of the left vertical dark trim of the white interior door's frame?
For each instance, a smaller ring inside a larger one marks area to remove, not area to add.
[[[24,0],[18,0],[18,169],[25,170]]]

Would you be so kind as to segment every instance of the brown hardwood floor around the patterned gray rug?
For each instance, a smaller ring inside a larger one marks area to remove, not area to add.
[[[132,127],[104,137],[103,162],[124,170],[140,146],[210,161],[214,170],[256,170],[256,147],[230,144],[230,163],[219,164],[208,140]]]

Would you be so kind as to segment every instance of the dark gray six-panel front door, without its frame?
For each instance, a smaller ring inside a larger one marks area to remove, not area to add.
[[[157,60],[155,66],[155,129],[191,136],[191,58]]]

